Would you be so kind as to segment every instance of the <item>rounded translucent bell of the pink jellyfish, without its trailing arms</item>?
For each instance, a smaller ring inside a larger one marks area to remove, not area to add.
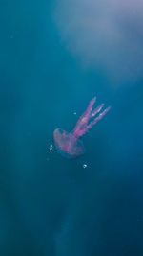
[[[83,142],[73,134],[61,128],[53,132],[53,140],[56,150],[66,158],[75,158],[85,152]]]

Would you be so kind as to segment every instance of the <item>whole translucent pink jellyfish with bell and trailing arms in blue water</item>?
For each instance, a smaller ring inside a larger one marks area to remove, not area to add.
[[[56,128],[53,132],[53,140],[54,145],[63,156],[68,158],[74,158],[84,153],[85,148],[83,142],[79,139],[85,133],[88,132],[93,125],[97,123],[109,110],[110,106],[107,107],[104,111],[100,112],[104,104],[97,106],[92,110],[92,106],[95,103],[96,98],[94,97],[86,111],[82,114],[82,116],[77,121],[75,127],[72,132],[67,132],[62,130],[61,128]],[[90,119],[94,117],[96,114],[100,114],[96,116],[90,123]]]

